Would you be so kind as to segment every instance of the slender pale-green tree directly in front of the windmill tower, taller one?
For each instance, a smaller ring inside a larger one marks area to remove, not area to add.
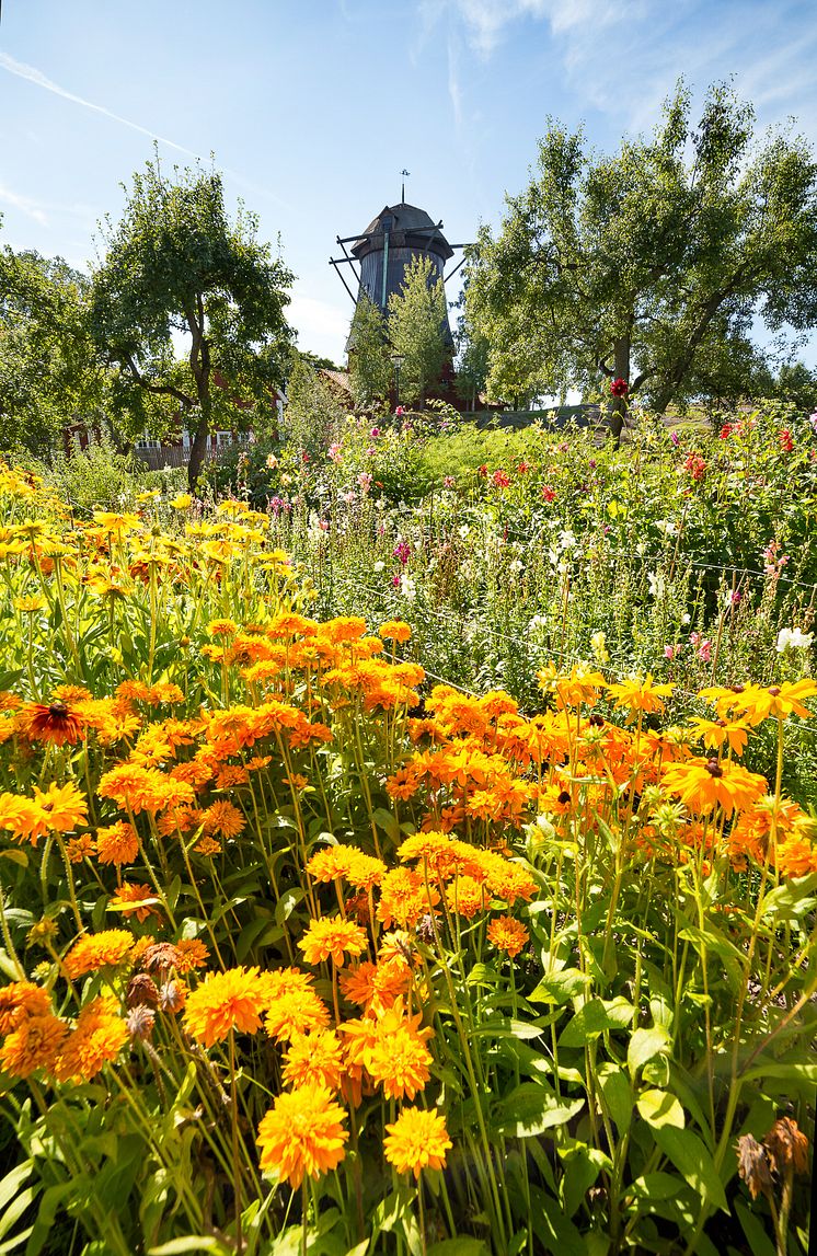
[[[400,391],[424,404],[449,354],[445,343],[446,309],[442,280],[430,257],[416,256],[403,271],[400,293],[388,298],[388,339],[402,355]]]

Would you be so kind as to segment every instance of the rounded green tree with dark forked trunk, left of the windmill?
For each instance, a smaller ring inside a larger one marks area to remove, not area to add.
[[[156,158],[133,176],[119,225],[108,220],[107,251],[93,274],[89,327],[117,368],[117,412],[134,435],[181,417],[194,433],[191,487],[216,423],[268,421],[289,358],[284,306],[293,275],[256,231],[258,219],[243,206],[229,220],[217,172],[175,168],[168,180]],[[184,360],[175,333],[186,338]],[[216,374],[226,387],[214,387]]]

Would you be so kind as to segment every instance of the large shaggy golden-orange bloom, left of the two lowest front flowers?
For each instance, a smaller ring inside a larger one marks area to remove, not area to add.
[[[348,1133],[344,1112],[326,1086],[302,1086],[282,1094],[258,1127],[260,1166],[300,1186],[304,1176],[319,1177],[337,1168]]]

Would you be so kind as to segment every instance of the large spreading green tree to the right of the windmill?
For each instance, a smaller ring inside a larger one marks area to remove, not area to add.
[[[817,313],[817,167],[801,138],[755,142],[754,114],[711,87],[690,128],[679,84],[651,139],[612,157],[551,123],[538,170],[507,197],[496,239],[480,234],[469,323],[490,344],[491,396],[605,392],[622,378],[662,413],[763,358],[772,332]],[[615,407],[621,432],[625,401]]]

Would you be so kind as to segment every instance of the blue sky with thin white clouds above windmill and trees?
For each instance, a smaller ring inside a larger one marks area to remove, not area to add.
[[[168,165],[214,152],[298,276],[300,347],[339,359],[334,237],[403,167],[406,198],[471,240],[549,114],[610,151],[680,74],[698,98],[734,75],[760,126],[794,117],[817,147],[816,60],[813,0],[4,0],[0,244],[85,269],[153,136]]]

